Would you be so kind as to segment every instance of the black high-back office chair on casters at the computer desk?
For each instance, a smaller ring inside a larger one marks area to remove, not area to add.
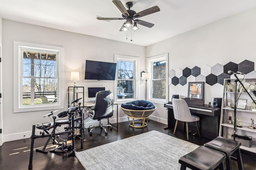
[[[100,127],[104,129],[106,135],[108,131],[105,127],[110,127],[112,130],[111,125],[102,125],[101,119],[109,119],[109,117],[113,116],[114,113],[114,95],[112,92],[108,90],[100,91],[96,93],[95,105],[94,107],[87,107],[86,109],[87,114],[92,119],[98,119],[99,125],[90,125],[88,131],[90,132],[90,136],[92,135],[92,130]]]

